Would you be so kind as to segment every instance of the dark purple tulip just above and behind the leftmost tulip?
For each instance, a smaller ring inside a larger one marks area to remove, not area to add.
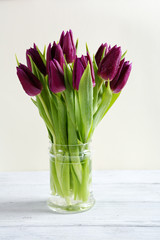
[[[31,56],[31,58],[32,58],[33,62],[36,64],[37,68],[45,76],[46,75],[46,66],[44,65],[44,62],[43,62],[35,44],[34,44],[34,48],[30,48],[26,51],[27,66],[32,71],[31,62],[30,62],[28,55]]]

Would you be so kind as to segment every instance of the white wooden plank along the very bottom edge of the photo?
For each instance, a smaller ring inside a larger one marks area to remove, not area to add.
[[[160,228],[154,227],[7,227],[0,228],[1,240],[159,240]]]

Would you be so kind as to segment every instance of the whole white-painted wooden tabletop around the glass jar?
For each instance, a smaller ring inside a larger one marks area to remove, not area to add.
[[[95,206],[60,215],[46,205],[48,172],[0,173],[0,240],[160,240],[160,171],[93,173]]]

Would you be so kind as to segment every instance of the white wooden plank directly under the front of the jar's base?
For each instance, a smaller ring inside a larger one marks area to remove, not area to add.
[[[1,204],[0,226],[157,226],[160,203],[97,202],[81,214],[61,215],[50,211],[45,201]]]

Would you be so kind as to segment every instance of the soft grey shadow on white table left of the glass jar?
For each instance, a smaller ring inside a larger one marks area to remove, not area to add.
[[[0,213],[16,213],[21,214],[22,212],[29,214],[43,214],[43,213],[50,213],[53,214],[54,212],[51,211],[48,206],[46,200],[44,201],[21,201],[21,202],[3,202],[0,203]]]

